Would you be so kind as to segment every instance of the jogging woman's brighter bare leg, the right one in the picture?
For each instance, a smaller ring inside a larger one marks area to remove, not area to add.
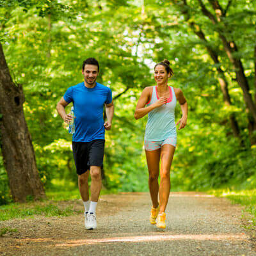
[[[161,147],[161,167],[160,167],[160,186],[159,186],[159,214],[165,211],[170,195],[170,169],[172,165],[175,147],[164,144]]]

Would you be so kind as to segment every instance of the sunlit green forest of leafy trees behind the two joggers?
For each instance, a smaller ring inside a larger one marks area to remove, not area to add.
[[[164,58],[174,71],[169,85],[181,88],[189,105],[188,125],[178,132],[172,190],[255,188],[254,0],[6,0],[0,6],[0,42],[12,79],[24,90],[46,191],[77,189],[72,136],[56,104],[83,81],[81,65],[91,56],[115,103],[106,132],[106,189],[148,191],[147,118],[133,115],[143,88],[154,85],[154,65]],[[11,201],[0,158],[0,204]]]

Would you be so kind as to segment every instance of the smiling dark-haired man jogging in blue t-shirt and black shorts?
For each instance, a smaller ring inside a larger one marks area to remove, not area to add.
[[[84,204],[86,229],[95,229],[96,207],[101,189],[101,167],[103,163],[105,129],[111,129],[114,105],[111,90],[96,82],[99,63],[94,58],[83,62],[84,82],[68,88],[57,104],[61,118],[67,123],[72,120],[65,112],[66,106],[73,102],[75,114],[75,133],[72,140],[73,155],[78,175],[78,186]],[[103,120],[106,106],[107,121]],[[89,200],[88,177],[92,178],[91,201]]]

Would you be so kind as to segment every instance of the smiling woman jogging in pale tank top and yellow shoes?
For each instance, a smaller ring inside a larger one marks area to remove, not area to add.
[[[159,228],[166,227],[164,211],[170,195],[170,168],[177,143],[174,116],[177,100],[182,110],[182,117],[176,124],[180,124],[179,130],[186,126],[188,116],[188,104],[182,91],[168,86],[168,79],[172,76],[173,70],[168,60],[157,63],[154,68],[156,86],[149,86],[143,90],[134,114],[136,119],[148,114],[145,152],[149,173],[148,186],[152,200],[150,223],[156,224]]]

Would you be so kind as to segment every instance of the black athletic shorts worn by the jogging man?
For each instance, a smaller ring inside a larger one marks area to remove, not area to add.
[[[90,142],[72,141],[73,156],[78,175],[85,173],[90,166],[103,164],[105,140],[93,140]]]

